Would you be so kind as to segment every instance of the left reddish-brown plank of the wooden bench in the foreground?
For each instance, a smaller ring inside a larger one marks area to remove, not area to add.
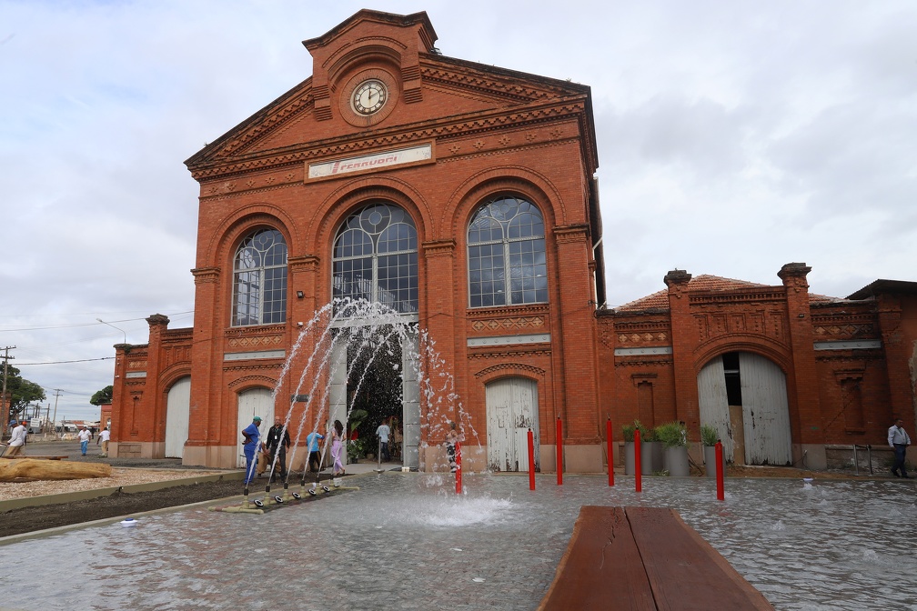
[[[656,608],[624,508],[581,507],[539,611]]]

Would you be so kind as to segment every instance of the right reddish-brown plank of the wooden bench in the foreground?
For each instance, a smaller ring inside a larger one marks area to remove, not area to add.
[[[673,509],[626,507],[657,607],[681,611],[773,606]]]

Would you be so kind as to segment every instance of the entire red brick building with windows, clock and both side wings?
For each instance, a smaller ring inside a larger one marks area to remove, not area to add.
[[[311,77],[188,159],[194,326],[155,314],[149,344],[117,348],[112,455],[235,466],[253,415],[311,431],[367,406],[372,424],[403,428],[404,464],[425,469],[441,464],[450,420],[471,468],[525,469],[531,428],[552,471],[559,419],[579,472],[605,468],[609,417],[616,439],[640,418],[685,420],[696,442],[705,421],[748,462],[816,467],[833,444],[882,442],[892,411],[913,431],[915,285],[835,300],[809,293],[802,264],[775,287],[672,271],[668,290],[597,310],[589,87],[447,58],[435,42],[425,13],[360,11],[304,41]],[[385,304],[408,330],[384,366],[327,340],[365,320],[313,330],[345,298]],[[311,372],[315,347],[331,357]],[[447,379],[447,400],[424,376]]]

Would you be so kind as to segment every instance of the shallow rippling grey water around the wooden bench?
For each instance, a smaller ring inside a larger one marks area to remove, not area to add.
[[[361,463],[362,464],[362,463]],[[356,465],[354,465],[356,467]],[[364,467],[375,467],[365,464]],[[778,609],[917,609],[912,481],[370,470],[264,515],[214,503],[0,545],[21,609],[535,609],[583,505],[673,507]],[[345,490],[359,486],[359,490]],[[98,593],[105,592],[104,596]]]

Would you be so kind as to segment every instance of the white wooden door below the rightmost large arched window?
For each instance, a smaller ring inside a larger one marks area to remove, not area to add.
[[[538,385],[523,377],[496,380],[485,389],[487,463],[494,471],[528,470],[528,430],[535,437],[539,464]]]

